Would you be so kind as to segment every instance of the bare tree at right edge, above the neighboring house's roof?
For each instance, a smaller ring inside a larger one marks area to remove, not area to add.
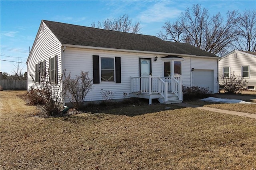
[[[236,40],[236,48],[244,51],[256,50],[256,10],[246,10],[240,15],[237,23],[240,34]]]

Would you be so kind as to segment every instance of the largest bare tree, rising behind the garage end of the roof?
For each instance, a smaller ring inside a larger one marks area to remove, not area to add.
[[[228,11],[227,21],[217,13],[209,16],[207,8],[199,4],[187,8],[176,22],[169,21],[162,27],[166,34],[158,34],[159,38],[174,42],[190,43],[213,54],[224,54],[238,35],[238,11]]]

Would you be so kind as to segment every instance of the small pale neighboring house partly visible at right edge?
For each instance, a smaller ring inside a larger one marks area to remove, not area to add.
[[[218,67],[220,87],[223,86],[223,76],[234,74],[244,77],[247,89],[256,90],[256,52],[233,50],[221,57]]]

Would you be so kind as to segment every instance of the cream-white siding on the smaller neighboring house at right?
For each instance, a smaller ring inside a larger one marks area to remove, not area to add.
[[[236,53],[236,57],[234,57]],[[256,86],[256,56],[235,50],[233,53],[228,54],[226,57],[222,58],[219,63],[219,81],[222,84],[223,67],[230,67],[230,75],[235,74],[237,76],[242,76],[242,66],[250,66],[250,77],[244,77],[248,86]]]

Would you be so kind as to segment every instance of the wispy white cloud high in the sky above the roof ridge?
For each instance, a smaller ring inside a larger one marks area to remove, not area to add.
[[[145,11],[138,15],[142,22],[164,22],[170,18],[176,18],[180,15],[182,10],[172,6],[170,1],[157,2],[153,6],[148,7]]]

